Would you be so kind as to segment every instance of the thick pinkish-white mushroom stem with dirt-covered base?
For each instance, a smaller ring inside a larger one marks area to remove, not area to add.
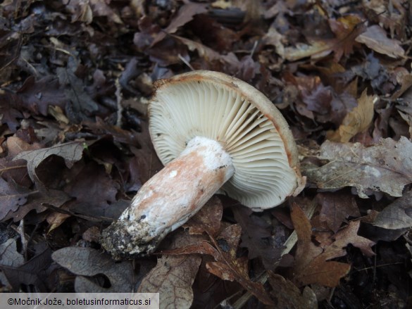
[[[232,158],[218,141],[194,137],[102,232],[102,246],[114,258],[151,253],[166,234],[197,213],[234,172]]]

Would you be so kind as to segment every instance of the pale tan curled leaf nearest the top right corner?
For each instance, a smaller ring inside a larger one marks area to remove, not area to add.
[[[401,58],[405,56],[405,51],[401,47],[401,42],[397,39],[389,39],[386,31],[380,25],[372,25],[365,32],[356,37],[356,42],[363,43],[373,51],[391,58]]]

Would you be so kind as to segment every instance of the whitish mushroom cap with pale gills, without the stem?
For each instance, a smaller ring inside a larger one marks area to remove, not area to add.
[[[279,205],[302,189],[289,126],[261,92],[220,72],[194,71],[156,82],[149,130],[166,165],[194,137],[219,141],[235,174],[220,193],[255,211]]]

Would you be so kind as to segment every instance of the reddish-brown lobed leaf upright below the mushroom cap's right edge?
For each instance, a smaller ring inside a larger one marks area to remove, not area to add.
[[[327,261],[323,249],[311,241],[312,227],[305,213],[296,203],[292,203],[292,221],[298,237],[293,280],[298,286],[322,284],[334,287],[348,274],[350,265]]]

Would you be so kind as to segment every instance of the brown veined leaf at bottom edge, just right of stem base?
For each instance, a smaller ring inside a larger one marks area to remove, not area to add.
[[[156,267],[144,277],[138,293],[159,293],[162,308],[190,308],[193,302],[192,284],[201,257],[197,255],[169,256],[158,259]]]

